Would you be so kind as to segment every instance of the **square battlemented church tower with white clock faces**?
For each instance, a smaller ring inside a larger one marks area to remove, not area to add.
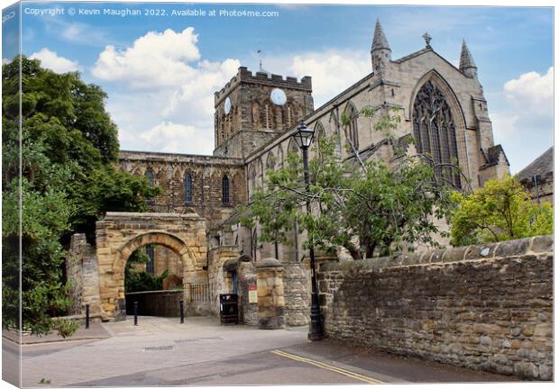
[[[314,109],[311,77],[281,77],[261,70],[237,75],[215,92],[215,149],[219,157],[245,158],[295,126]]]

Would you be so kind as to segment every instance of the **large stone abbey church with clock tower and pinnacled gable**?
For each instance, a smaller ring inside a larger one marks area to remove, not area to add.
[[[429,152],[439,162],[458,161],[474,188],[509,172],[503,149],[493,141],[487,102],[466,43],[456,68],[433,50],[428,34],[424,38],[425,48],[393,59],[377,21],[371,73],[320,107],[313,104],[311,77],[298,80],[239,68],[215,92],[213,156],[120,152],[122,169],[147,176],[151,185],[162,188],[150,205],[152,213],[196,213],[206,221],[206,250],[199,252],[206,258],[188,273],[193,278],[185,283],[209,284],[213,295],[236,291],[236,276],[227,276],[234,273],[228,271],[232,262],[276,257],[273,245],[259,241],[258,228],[241,226],[234,210],[264,185],[266,170],[281,167],[289,152],[298,151],[292,133],[301,120],[318,137],[336,135],[337,149],[346,158],[352,157],[344,147],[351,140],[364,160],[389,163],[397,145],[414,137],[408,153]],[[371,120],[360,115],[364,107],[380,108],[383,114],[398,109],[396,142],[372,129]],[[351,119],[349,128],[342,127],[342,114]],[[457,187],[466,185],[463,176],[450,179]],[[166,286],[179,284],[187,274],[176,250],[156,245],[147,246],[147,252],[149,271],[169,270]],[[305,323],[308,258],[302,238],[294,232],[293,244],[280,246],[278,256],[285,268],[286,321]]]

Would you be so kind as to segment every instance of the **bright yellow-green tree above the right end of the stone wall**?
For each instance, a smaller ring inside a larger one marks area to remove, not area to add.
[[[488,180],[473,194],[453,195],[454,246],[553,233],[551,204],[533,204],[516,176]]]

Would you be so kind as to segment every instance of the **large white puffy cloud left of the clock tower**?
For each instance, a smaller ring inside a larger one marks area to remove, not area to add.
[[[214,92],[241,62],[201,59],[197,34],[148,32],[124,50],[106,46],[92,75],[118,85],[107,111],[118,124],[123,149],[211,154]]]

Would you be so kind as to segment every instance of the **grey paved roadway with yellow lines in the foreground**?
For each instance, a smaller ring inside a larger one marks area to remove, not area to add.
[[[49,337],[23,344],[24,387],[516,380],[327,339],[310,342],[307,327],[258,330],[222,326],[212,317],[192,317],[184,324],[175,318],[140,317],[139,326],[129,319],[99,323],[71,340]],[[17,353],[17,345],[4,339],[4,350]]]

